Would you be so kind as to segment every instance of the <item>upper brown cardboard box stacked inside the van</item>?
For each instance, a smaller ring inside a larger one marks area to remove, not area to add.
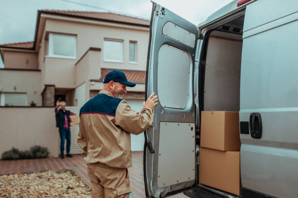
[[[239,112],[202,111],[200,146],[240,150]]]

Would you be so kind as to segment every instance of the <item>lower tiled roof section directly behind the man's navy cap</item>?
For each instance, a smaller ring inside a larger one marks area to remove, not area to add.
[[[99,79],[99,82],[103,82],[107,73],[109,73],[112,70],[114,69],[101,69],[101,77]],[[146,82],[146,71],[131,71],[131,70],[119,70],[119,71],[122,71],[126,75],[127,80],[130,82],[141,83],[141,84]]]

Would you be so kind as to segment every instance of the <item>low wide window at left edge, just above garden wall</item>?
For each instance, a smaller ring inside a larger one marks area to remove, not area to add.
[[[27,95],[17,93],[1,93],[0,106],[27,106]]]

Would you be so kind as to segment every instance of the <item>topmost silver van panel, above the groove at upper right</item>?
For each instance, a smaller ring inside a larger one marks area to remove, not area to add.
[[[297,0],[257,0],[246,6],[243,32],[297,12]]]

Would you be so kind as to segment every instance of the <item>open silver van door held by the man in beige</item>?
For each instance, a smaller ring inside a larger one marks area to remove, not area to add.
[[[146,196],[161,198],[195,183],[193,69],[197,27],[153,2],[147,60],[146,99],[159,98],[145,132]]]

